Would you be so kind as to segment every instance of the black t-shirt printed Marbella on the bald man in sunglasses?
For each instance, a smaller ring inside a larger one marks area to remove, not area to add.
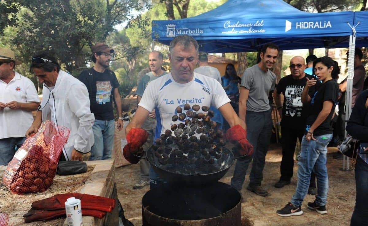
[[[317,79],[314,86],[309,88],[308,95],[313,97],[316,89],[321,86],[321,82],[312,75],[305,74],[304,78],[294,79],[292,75],[287,75],[280,79],[277,84],[277,93],[284,95],[282,106],[281,126],[293,129],[304,129],[305,120],[310,110],[310,103],[301,103],[301,94],[308,79]]]

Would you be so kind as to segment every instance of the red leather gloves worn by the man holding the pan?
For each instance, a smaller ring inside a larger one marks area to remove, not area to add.
[[[123,155],[128,162],[136,164],[139,157],[142,156],[142,145],[147,141],[148,133],[144,129],[132,128],[127,134],[127,144],[123,148]],[[230,127],[226,131],[226,139],[230,142],[237,143],[239,156],[250,156],[253,153],[253,145],[247,140],[247,131],[240,125]]]

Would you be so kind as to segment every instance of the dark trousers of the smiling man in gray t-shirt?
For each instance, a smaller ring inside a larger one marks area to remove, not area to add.
[[[245,174],[252,159],[253,165],[249,175],[250,184],[261,185],[266,153],[272,134],[271,110],[263,112],[247,111],[245,123],[247,123],[247,140],[253,145],[254,152],[245,160],[236,162],[234,175],[231,178],[231,186],[237,190],[241,190],[243,186]]]

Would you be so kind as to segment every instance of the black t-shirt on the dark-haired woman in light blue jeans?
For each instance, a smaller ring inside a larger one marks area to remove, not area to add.
[[[326,81],[321,85],[321,87],[317,90],[314,97],[311,100],[311,112],[307,118],[307,126],[305,128],[306,131],[309,130],[309,127],[314,123],[316,120],[319,112],[322,111],[323,102],[330,100],[333,102],[333,106],[330,110],[330,114],[328,117],[319,125],[314,131],[313,136],[321,136],[323,134],[330,134],[332,133],[332,125],[331,125],[331,118],[333,115],[333,110],[335,109],[335,104],[337,101],[337,97],[339,96],[339,85],[335,79],[331,79]]]

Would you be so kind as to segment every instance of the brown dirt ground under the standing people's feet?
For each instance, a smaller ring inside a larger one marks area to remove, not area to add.
[[[301,216],[281,217],[276,214],[276,210],[283,208],[295,192],[297,184],[297,164],[294,164],[294,177],[291,184],[282,189],[275,188],[274,185],[280,177],[281,148],[280,145],[270,145],[266,156],[266,165],[263,170],[262,186],[271,194],[268,197],[261,197],[246,189],[249,183],[249,172],[241,190],[244,202],[241,204],[242,218],[247,218],[255,226],[264,225],[349,225],[350,217],[355,204],[355,181],[353,171],[342,171],[342,160],[332,158],[332,153],[336,148],[329,148],[328,152],[328,175],[329,193],[328,204],[326,205],[328,214],[320,215],[307,208],[307,202],[313,201],[314,196],[307,194],[302,204],[304,214]],[[230,179],[234,172],[234,165],[231,166],[227,174],[220,180],[230,184]],[[134,190],[133,185],[139,181],[139,164],[128,165],[116,168],[116,186],[118,198],[123,205],[125,217],[135,226],[142,225],[141,200],[143,195],[149,190],[149,186],[143,189]]]

